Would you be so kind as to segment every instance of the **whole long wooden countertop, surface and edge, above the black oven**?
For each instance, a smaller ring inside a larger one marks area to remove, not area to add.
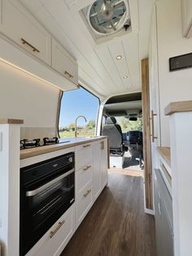
[[[26,148],[20,150],[20,159],[25,159],[28,157],[35,157],[41,154],[46,154],[48,152],[54,152],[57,150],[61,150],[64,148],[70,148],[75,147],[77,145],[85,144],[85,143],[91,143],[100,139],[107,139],[107,136],[93,136],[91,137],[76,137],[76,138],[65,138],[62,139],[63,143],[53,144],[49,146],[42,146],[37,148]],[[64,141],[68,141],[64,143]]]

